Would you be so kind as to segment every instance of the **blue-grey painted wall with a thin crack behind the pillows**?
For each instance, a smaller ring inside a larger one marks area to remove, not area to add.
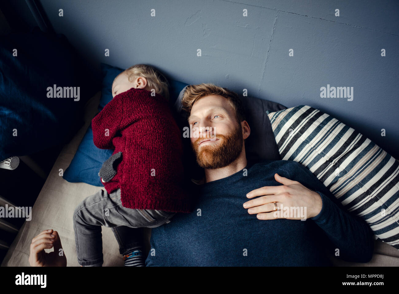
[[[97,71],[100,62],[146,63],[186,83],[213,82],[239,94],[246,88],[287,107],[311,105],[399,158],[397,0],[40,2],[55,31]],[[353,101],[320,98],[327,84],[354,87]]]

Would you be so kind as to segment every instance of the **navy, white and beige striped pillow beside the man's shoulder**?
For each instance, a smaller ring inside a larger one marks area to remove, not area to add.
[[[399,161],[310,106],[267,114],[282,159],[307,167],[375,238],[399,249]]]

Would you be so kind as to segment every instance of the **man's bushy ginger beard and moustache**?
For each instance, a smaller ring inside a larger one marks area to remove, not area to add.
[[[199,149],[199,144],[206,138],[198,138],[192,148],[197,156],[197,163],[204,169],[219,169],[232,163],[243,149],[243,134],[241,124],[227,135],[216,135],[219,139],[216,145],[204,145]]]

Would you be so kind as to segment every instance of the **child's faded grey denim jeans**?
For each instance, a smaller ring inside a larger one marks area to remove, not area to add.
[[[152,209],[130,209],[122,206],[120,189],[111,194],[100,190],[87,197],[73,213],[77,258],[83,266],[103,264],[101,226],[111,227],[122,254],[140,242],[131,228],[155,228],[170,222],[174,212]]]

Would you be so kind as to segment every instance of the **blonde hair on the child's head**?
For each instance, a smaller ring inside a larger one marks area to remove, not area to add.
[[[128,80],[130,82],[137,77],[145,77],[148,87],[150,87],[150,89],[154,89],[155,93],[164,96],[166,101],[169,101],[168,80],[163,74],[161,74],[152,66],[149,66],[147,64],[136,64],[124,70],[124,73],[127,74]]]

